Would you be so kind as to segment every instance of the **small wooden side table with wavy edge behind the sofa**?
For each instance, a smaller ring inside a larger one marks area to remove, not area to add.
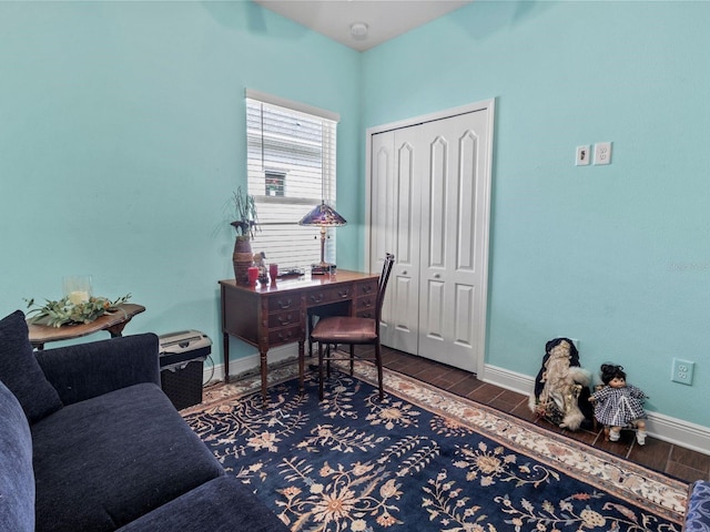
[[[32,318],[30,318],[27,324],[30,329],[30,344],[36,349],[44,349],[44,344],[48,341],[71,340],[100,330],[108,330],[111,334],[111,338],[114,338],[121,336],[123,327],[128,325],[133,316],[144,310],[145,307],[141,305],[123,303],[119,305],[118,311],[99,316],[90,324],[63,325],[61,327],[42,325],[42,320],[31,323]]]

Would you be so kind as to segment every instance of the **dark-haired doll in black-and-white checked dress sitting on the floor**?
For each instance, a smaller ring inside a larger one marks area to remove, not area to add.
[[[627,385],[623,368],[613,364],[601,365],[601,381],[604,386],[589,400],[595,406],[595,418],[605,426],[607,440],[618,441],[621,429],[631,426],[639,446],[646,443],[646,393]]]

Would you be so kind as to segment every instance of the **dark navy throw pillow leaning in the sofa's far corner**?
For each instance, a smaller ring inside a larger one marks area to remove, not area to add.
[[[30,423],[62,408],[57,390],[34,358],[21,310],[0,320],[0,380],[18,398]]]

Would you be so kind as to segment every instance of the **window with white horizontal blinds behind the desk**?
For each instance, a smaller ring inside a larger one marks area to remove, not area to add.
[[[248,193],[261,227],[252,249],[282,270],[321,260],[320,229],[298,221],[322,198],[335,208],[336,127],[328,111],[246,92]],[[335,263],[335,232],[328,233],[325,259]]]

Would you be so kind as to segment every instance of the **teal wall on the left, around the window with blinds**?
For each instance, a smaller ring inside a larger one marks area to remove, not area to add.
[[[359,265],[357,52],[251,2],[0,2],[0,42],[1,316],[91,274],[146,307],[126,334],[195,328],[221,359],[245,88],[342,114],[338,264]]]

